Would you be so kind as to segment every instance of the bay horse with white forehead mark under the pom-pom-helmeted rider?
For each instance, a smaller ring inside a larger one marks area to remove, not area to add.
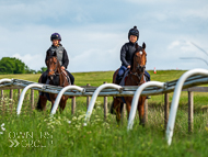
[[[130,71],[125,78],[125,86],[140,86],[146,82],[145,80],[145,69],[146,69],[146,63],[147,63],[147,53],[146,53],[146,43],[142,44],[142,47],[139,48],[139,46],[136,46],[137,51],[134,54],[132,58],[132,65],[130,67]],[[116,83],[116,76],[118,74],[117,69],[113,75],[113,83]],[[139,113],[139,120],[141,125],[145,126],[145,101],[146,96],[139,98],[138,102],[138,113]],[[122,99],[120,97],[114,97],[113,103],[112,103],[112,112],[113,110],[116,112],[116,120],[119,123],[120,122],[120,112],[122,106],[124,105],[124,101],[126,102],[126,109],[129,116],[130,108],[131,108],[131,101],[132,97],[124,97]],[[128,119],[127,116],[127,119]]]

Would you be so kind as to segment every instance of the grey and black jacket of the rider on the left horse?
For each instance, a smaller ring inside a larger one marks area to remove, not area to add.
[[[67,55],[67,51],[62,47],[61,44],[59,44],[58,47],[51,45],[48,48],[48,51],[46,52],[45,63],[47,60],[47,54],[49,54],[49,56],[51,56],[54,54],[54,52],[56,52],[56,54],[57,54],[57,58],[59,60],[60,66],[63,66],[67,69],[67,66],[69,65],[69,58]]]

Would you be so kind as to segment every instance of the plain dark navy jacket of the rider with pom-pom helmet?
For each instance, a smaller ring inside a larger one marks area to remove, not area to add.
[[[122,60],[122,66],[129,66],[132,64],[132,57],[136,52],[136,44],[137,43],[126,43],[123,45],[120,49],[120,60]]]

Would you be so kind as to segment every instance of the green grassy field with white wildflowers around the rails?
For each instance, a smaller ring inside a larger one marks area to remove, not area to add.
[[[149,71],[151,80],[171,81],[178,79],[183,70]],[[112,82],[113,71],[76,72],[77,86],[100,86]],[[37,81],[39,75],[1,75],[2,78],[16,78]],[[85,98],[77,98],[76,114],[71,115],[71,102],[68,100],[62,114],[49,116],[50,103],[46,112],[32,111],[30,100],[25,100],[20,116],[15,115],[18,104],[14,99],[4,98],[0,104],[0,156],[208,156],[208,113],[201,112],[207,105],[207,93],[194,93],[194,132],[187,132],[187,92],[182,92],[180,109],[171,146],[164,136],[163,104],[164,96],[153,96],[148,101],[148,123],[138,125],[138,115],[134,130],[127,132],[127,120],[117,125],[115,115],[103,119],[103,98],[96,101],[91,123],[83,126],[86,111]],[[26,96],[27,97],[27,96]],[[37,92],[36,92],[37,98]],[[37,99],[35,99],[36,101]],[[172,100],[172,94],[170,94]],[[112,99],[108,98],[108,104]],[[70,121],[70,122],[69,122]],[[12,145],[12,143],[15,143]],[[16,143],[19,144],[16,146]]]

